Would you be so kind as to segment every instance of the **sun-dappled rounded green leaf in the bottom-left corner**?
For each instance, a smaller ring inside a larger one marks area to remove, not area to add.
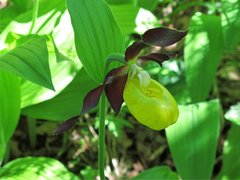
[[[76,175],[56,159],[46,157],[18,158],[7,163],[0,170],[0,178],[5,180],[76,180]]]

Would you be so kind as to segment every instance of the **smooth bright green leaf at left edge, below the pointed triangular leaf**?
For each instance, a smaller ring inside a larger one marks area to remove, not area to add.
[[[20,115],[20,80],[0,70],[0,165]]]

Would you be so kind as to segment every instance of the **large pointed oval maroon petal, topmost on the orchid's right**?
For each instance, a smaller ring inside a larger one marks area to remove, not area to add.
[[[186,34],[187,31],[160,27],[147,30],[143,34],[142,40],[149,45],[169,46],[180,41]]]

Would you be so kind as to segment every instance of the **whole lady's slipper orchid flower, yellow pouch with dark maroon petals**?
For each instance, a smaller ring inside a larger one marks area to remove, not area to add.
[[[101,94],[105,90],[110,106],[116,114],[122,103],[126,105],[133,116],[142,124],[154,130],[161,130],[176,122],[178,107],[166,88],[151,79],[141,65],[149,60],[162,62],[169,59],[165,54],[151,53],[138,56],[140,51],[149,46],[169,46],[180,41],[186,31],[181,32],[168,28],[155,28],[146,31],[140,41],[134,42],[125,51],[123,66],[107,73],[102,85],[91,90],[84,98],[81,114],[97,106]],[[137,57],[138,56],[138,57]],[[61,125],[56,133],[61,133],[77,121],[72,118]]]

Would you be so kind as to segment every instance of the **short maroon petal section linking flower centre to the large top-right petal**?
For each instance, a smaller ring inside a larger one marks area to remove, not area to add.
[[[125,60],[129,61],[135,58],[140,53],[140,51],[146,46],[147,45],[143,41],[134,42],[126,49]]]

